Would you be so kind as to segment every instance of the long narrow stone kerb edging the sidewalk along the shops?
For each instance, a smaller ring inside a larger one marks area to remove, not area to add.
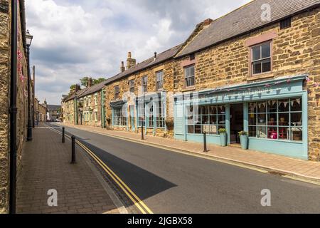
[[[73,126],[73,125],[66,125],[66,126],[69,126],[70,128],[78,128],[80,130],[84,129],[84,128],[81,128],[79,126]],[[92,132],[98,133],[98,134],[102,134],[102,135],[107,135],[107,136],[110,136],[110,137],[113,137],[113,138],[120,138],[120,139],[123,139],[123,140],[137,140],[137,141],[142,142],[142,143],[144,143],[146,145],[151,145],[151,146],[154,146],[154,147],[161,147],[161,148],[164,148],[164,149],[176,150],[176,151],[185,152],[185,153],[188,153],[188,154],[201,155],[203,157],[208,157],[208,158],[215,158],[216,160],[220,160],[221,162],[225,161],[225,162],[234,162],[235,164],[238,164],[238,165],[248,165],[248,166],[250,166],[252,168],[262,169],[262,170],[265,170],[265,171],[271,172],[271,173],[274,172],[274,173],[277,173],[277,174],[281,174],[282,176],[287,175],[289,177],[297,177],[297,178],[301,178],[303,180],[310,180],[310,181],[314,181],[314,182],[319,182],[320,183],[320,177],[312,177],[312,176],[309,176],[309,175],[303,175],[302,173],[299,173],[299,172],[293,172],[293,171],[288,171],[288,170],[277,169],[277,168],[269,167],[269,166],[266,166],[266,165],[258,165],[258,164],[255,164],[253,162],[244,162],[242,160],[235,160],[235,159],[228,158],[228,157],[220,157],[220,156],[217,156],[217,155],[210,155],[210,154],[206,154],[204,152],[196,152],[196,151],[191,151],[191,150],[179,149],[179,148],[170,147],[170,146],[167,146],[167,145],[160,145],[159,143],[156,143],[156,142],[147,142],[145,140],[129,138],[129,137],[125,137],[125,136],[122,136],[122,135],[121,136],[119,136],[119,135],[111,135],[110,133],[103,133],[103,132],[100,132],[100,131],[97,131],[97,130],[92,130]]]

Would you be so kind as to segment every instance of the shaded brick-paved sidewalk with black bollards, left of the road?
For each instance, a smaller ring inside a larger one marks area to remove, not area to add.
[[[119,201],[90,160],[77,147],[77,164],[70,165],[70,150],[67,138],[63,144],[60,135],[44,126],[33,130],[18,177],[18,213],[119,213],[114,205]],[[48,206],[50,189],[58,191],[58,207]]]

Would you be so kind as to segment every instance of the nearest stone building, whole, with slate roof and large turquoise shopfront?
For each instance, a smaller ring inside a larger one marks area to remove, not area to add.
[[[184,43],[174,66],[174,92],[183,92],[175,138],[202,142],[206,131],[219,144],[225,128],[236,145],[245,130],[252,150],[319,160],[319,4],[252,1]]]

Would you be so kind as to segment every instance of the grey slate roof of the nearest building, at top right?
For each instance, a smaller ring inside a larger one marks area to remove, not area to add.
[[[261,6],[270,4],[271,21],[262,21]],[[319,6],[320,0],[255,0],[216,19],[182,49],[176,57],[186,56],[229,38],[272,24],[288,16]]]

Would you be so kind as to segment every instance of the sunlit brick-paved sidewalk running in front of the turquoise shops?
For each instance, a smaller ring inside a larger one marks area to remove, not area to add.
[[[267,170],[284,172],[287,175],[320,181],[320,162],[299,160],[291,157],[284,157],[281,155],[273,155],[252,150],[241,150],[238,147],[220,147],[217,145],[208,145],[208,150],[210,151],[205,153],[203,152],[203,144],[196,142],[183,142],[180,140],[155,137],[153,135],[145,135],[145,140],[142,141],[141,135],[136,133],[106,130],[83,125],[63,125],[71,128],[103,133],[114,137],[136,140],[149,145],[159,145],[161,147],[183,150],[185,152],[206,155],[222,160],[240,162],[255,167],[262,167]]]

